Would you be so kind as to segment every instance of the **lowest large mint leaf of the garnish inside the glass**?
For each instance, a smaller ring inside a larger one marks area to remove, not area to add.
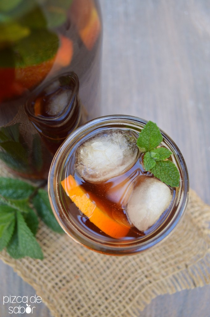
[[[150,170],[151,173],[159,178],[166,185],[178,187],[180,175],[174,163],[171,161],[157,161],[155,166]]]

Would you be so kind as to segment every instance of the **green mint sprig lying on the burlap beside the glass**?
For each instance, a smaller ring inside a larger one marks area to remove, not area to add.
[[[35,238],[38,216],[52,230],[63,232],[44,189],[22,180],[0,177],[0,251],[6,248],[15,259],[24,256],[43,259]]]

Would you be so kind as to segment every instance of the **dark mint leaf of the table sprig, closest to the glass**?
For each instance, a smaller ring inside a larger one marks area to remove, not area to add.
[[[38,215],[48,227],[59,233],[64,232],[52,212],[48,193],[45,190],[38,190],[38,193],[33,198],[33,204]]]

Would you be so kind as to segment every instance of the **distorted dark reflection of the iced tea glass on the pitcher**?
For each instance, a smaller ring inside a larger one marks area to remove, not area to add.
[[[52,155],[68,134],[86,119],[78,91],[78,77],[71,72],[35,92],[26,103],[28,118]]]

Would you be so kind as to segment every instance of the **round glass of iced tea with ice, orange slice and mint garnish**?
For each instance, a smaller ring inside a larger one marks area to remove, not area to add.
[[[173,140],[155,123],[123,115],[91,120],[71,133],[48,180],[65,232],[109,255],[135,254],[168,236],[186,209],[188,190]]]

